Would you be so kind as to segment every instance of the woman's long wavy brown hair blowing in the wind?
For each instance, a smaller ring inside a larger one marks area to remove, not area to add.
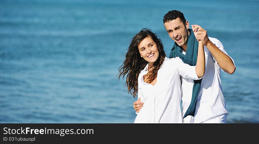
[[[157,48],[159,51],[159,56],[152,67],[149,67],[149,74],[147,76],[147,83],[151,83],[157,77],[157,71],[162,65],[165,59],[165,51],[164,46],[162,44],[161,39],[157,38],[157,34],[154,34],[150,29],[142,29],[138,34],[136,34],[129,45],[128,52],[125,54],[126,59],[123,64],[119,67],[119,78],[123,75],[126,76],[126,85],[128,87],[128,92],[135,96],[138,91],[138,76],[140,71],[145,68],[147,65],[147,61],[140,57],[140,52],[138,49],[138,45],[142,42],[146,37],[150,37],[157,44]],[[133,92],[132,92],[133,90]]]

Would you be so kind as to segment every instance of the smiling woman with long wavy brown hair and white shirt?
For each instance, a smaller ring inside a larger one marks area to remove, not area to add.
[[[180,76],[199,80],[205,72],[204,47],[199,42],[196,66],[179,57],[168,59],[157,35],[149,29],[136,34],[119,68],[127,75],[128,92],[144,102],[134,123],[182,123]],[[132,92],[133,90],[133,92]]]

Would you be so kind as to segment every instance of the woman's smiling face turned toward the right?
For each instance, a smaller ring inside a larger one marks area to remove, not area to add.
[[[150,66],[154,64],[159,56],[159,51],[157,49],[157,44],[151,37],[146,37],[138,45],[140,56],[143,57]]]

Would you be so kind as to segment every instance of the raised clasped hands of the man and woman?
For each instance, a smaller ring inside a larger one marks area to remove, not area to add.
[[[203,29],[201,26],[194,24],[192,25],[192,30],[194,32],[194,35],[197,39],[197,41],[202,41],[202,43],[206,46],[209,44],[210,39],[208,37],[207,31]]]

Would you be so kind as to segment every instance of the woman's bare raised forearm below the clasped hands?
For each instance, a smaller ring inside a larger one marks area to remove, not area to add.
[[[205,73],[205,55],[204,55],[204,46],[202,41],[199,41],[198,57],[197,57],[195,70],[199,78],[203,77]]]

